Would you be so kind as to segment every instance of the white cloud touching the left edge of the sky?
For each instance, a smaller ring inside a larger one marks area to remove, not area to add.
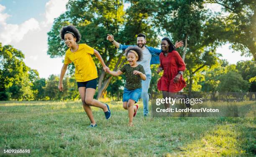
[[[26,20],[20,25],[7,24],[6,19],[10,15],[2,13],[4,10],[5,6],[0,5],[0,42],[3,45],[19,42],[29,31],[39,29],[39,22],[34,18]]]

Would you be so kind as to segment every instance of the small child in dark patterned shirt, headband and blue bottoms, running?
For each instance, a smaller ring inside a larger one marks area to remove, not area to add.
[[[137,61],[140,61],[143,57],[140,48],[134,46],[128,47],[125,50],[125,56],[129,64],[125,64],[117,72],[110,71],[109,74],[119,76],[125,72],[126,82],[123,92],[123,108],[128,110],[129,126],[132,127],[133,117],[138,110],[138,105],[134,106],[134,104],[141,97],[141,80],[146,80],[146,75],[143,66],[137,64]]]

